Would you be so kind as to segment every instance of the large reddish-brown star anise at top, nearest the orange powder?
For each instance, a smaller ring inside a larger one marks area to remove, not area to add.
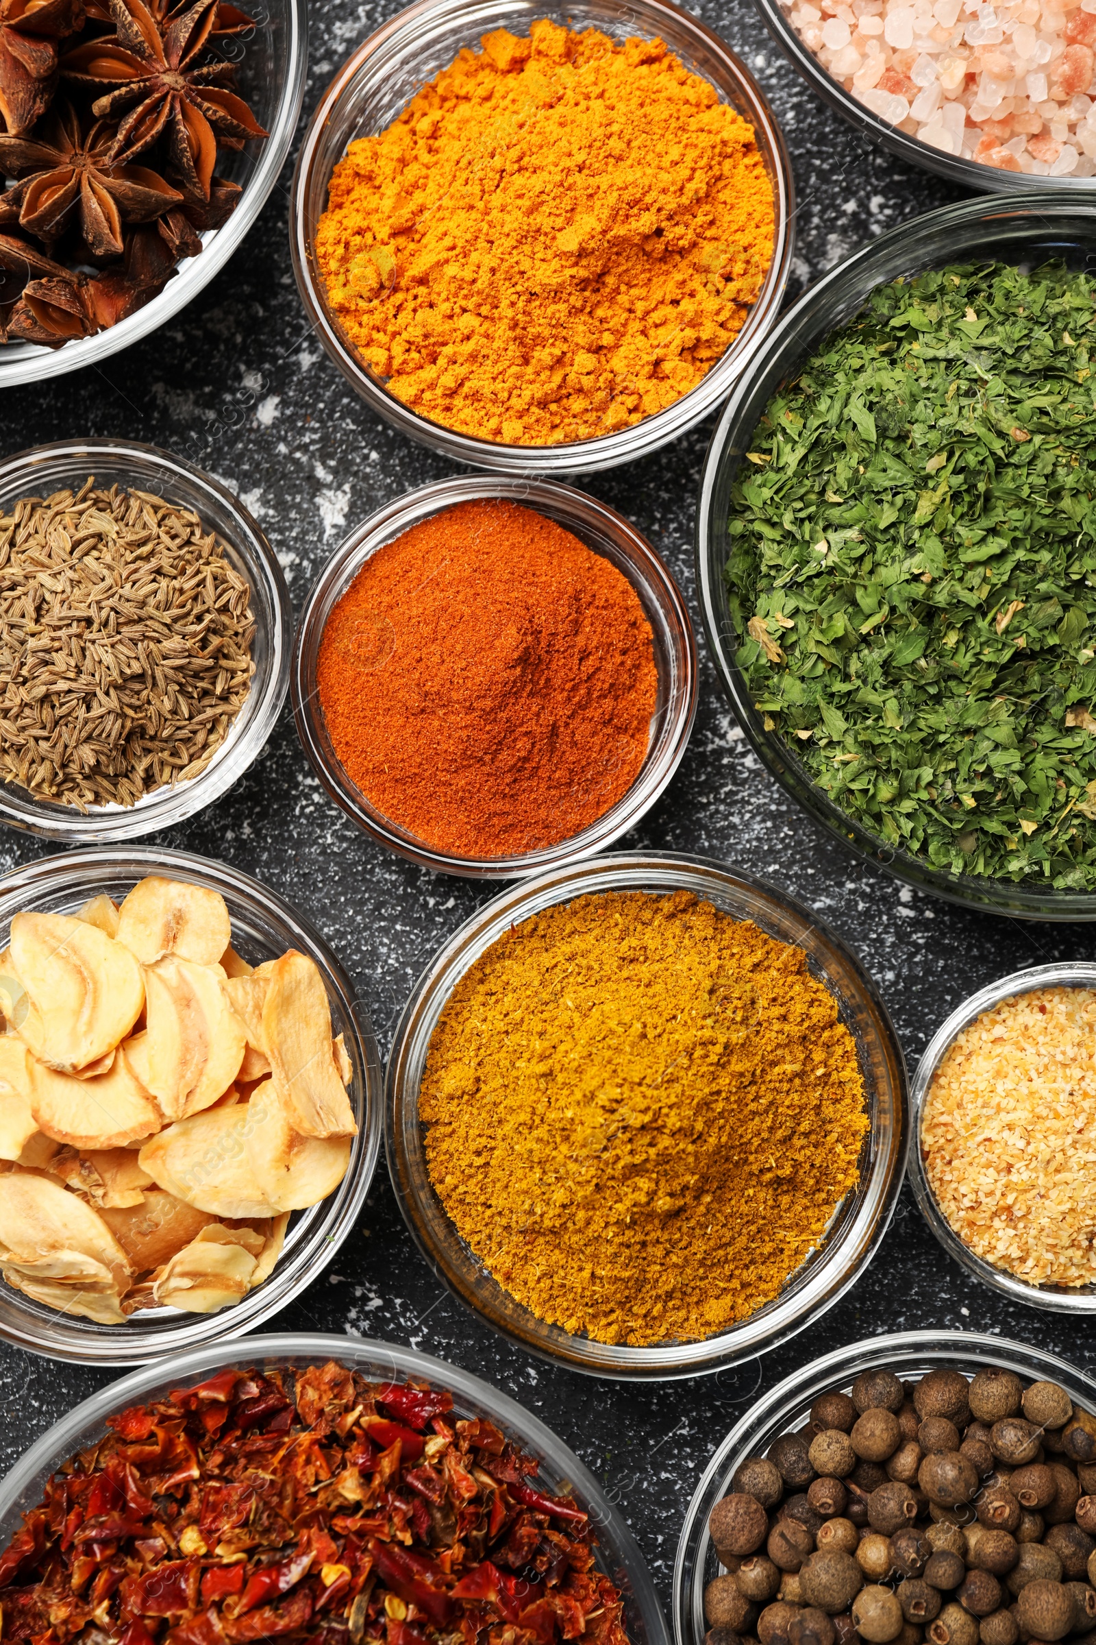
[[[227,90],[230,63],[196,66],[217,12],[219,0],[196,0],[158,20],[143,0],[110,0],[113,36],[77,46],[61,64],[67,81],[99,94],[94,114],[122,115],[115,160],[128,163],[163,137],[186,192],[204,201],[217,143],[243,148],[248,138],[269,135],[243,99]]]

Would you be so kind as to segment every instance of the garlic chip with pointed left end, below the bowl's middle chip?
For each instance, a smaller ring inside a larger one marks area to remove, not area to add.
[[[177,1199],[219,1217],[273,1217],[279,1206],[263,1193],[246,1148],[250,1102],[205,1109],[176,1120],[146,1142],[138,1160]]]

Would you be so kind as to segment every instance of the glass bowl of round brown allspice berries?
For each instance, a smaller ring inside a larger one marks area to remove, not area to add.
[[[1096,1638],[1096,1383],[1001,1337],[854,1342],[726,1436],[685,1517],[677,1645]]]

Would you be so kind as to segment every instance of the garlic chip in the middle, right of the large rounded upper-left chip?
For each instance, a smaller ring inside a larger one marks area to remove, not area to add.
[[[246,1036],[223,979],[209,966],[161,959],[145,972],[148,1040],[141,1079],[168,1119],[199,1114],[237,1077]]]

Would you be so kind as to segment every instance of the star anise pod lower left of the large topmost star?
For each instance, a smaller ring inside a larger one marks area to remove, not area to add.
[[[33,140],[0,137],[0,171],[23,179],[5,194],[5,211],[18,206],[20,227],[46,243],[79,215],[92,258],[120,257],[123,220],[150,222],[182,204],[182,194],[146,166],[113,163],[113,137],[104,120],[84,133],[67,104],[53,109]]]

